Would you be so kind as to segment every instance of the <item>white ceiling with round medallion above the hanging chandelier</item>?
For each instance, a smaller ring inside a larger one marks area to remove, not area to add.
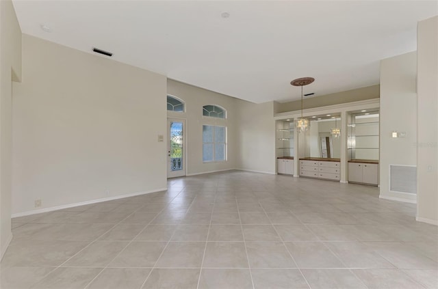
[[[252,102],[379,83],[379,61],[416,49],[437,1],[22,1],[23,33]],[[228,12],[229,18],[222,18]],[[51,33],[41,29],[51,28]]]

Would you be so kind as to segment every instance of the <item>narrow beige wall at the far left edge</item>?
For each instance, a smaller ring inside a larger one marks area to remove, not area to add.
[[[12,81],[21,80],[21,29],[12,2],[0,1],[0,259],[12,238]]]

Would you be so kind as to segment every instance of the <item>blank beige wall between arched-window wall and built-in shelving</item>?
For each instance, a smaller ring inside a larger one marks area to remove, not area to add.
[[[273,102],[237,100],[238,169],[275,174]]]

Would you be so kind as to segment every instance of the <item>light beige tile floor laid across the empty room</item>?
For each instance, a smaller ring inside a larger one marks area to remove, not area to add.
[[[12,220],[1,288],[438,288],[438,231],[358,184],[229,171]]]

